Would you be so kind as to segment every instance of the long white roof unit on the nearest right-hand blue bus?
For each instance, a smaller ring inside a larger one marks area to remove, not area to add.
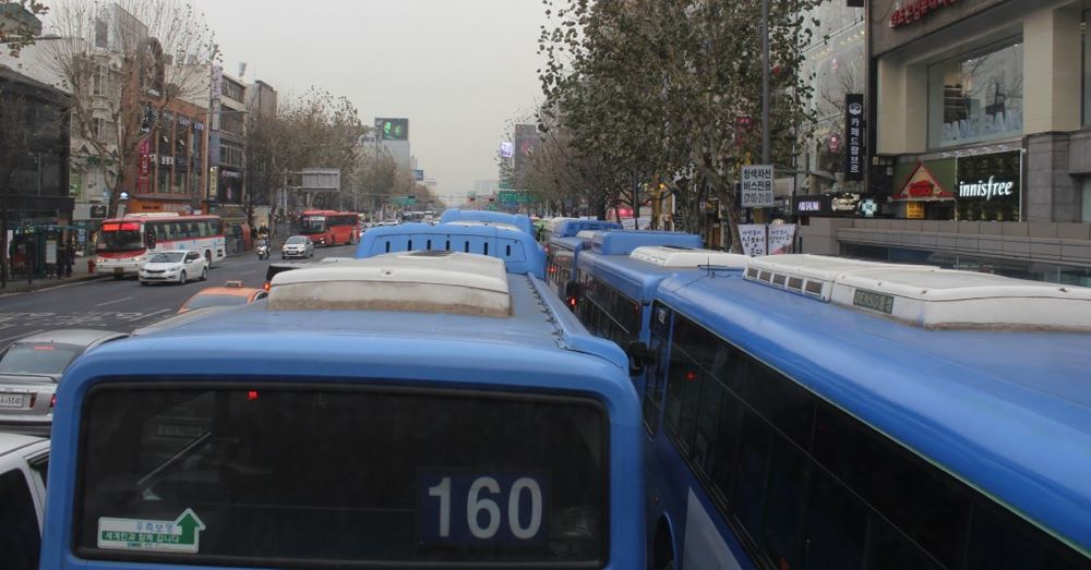
[[[808,296],[930,329],[1091,331],[1091,288],[814,255],[754,259],[745,278],[770,271]]]

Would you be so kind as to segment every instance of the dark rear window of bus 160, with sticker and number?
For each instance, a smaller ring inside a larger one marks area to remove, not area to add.
[[[608,551],[608,419],[588,399],[123,384],[93,390],[81,425],[86,558],[600,568]]]

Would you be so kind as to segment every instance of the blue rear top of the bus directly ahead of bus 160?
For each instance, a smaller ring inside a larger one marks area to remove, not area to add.
[[[356,257],[415,251],[488,255],[502,259],[511,272],[529,272],[539,279],[546,279],[546,252],[541,244],[530,233],[500,226],[441,222],[434,226],[403,223],[372,228],[360,238]]]

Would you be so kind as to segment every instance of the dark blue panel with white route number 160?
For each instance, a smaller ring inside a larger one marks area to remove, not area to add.
[[[547,536],[549,480],[542,473],[422,471],[420,542],[540,545]]]

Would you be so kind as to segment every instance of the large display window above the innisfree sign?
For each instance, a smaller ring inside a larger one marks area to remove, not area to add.
[[[1022,134],[1022,38],[928,68],[928,146]]]

